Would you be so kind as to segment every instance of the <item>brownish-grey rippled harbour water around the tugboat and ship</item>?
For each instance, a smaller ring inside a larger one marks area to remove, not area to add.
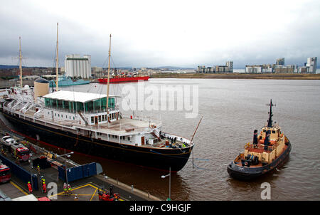
[[[119,95],[125,85],[111,85]],[[194,137],[192,157],[186,166],[171,175],[173,200],[261,200],[263,182],[271,185],[272,200],[320,200],[320,80],[228,80],[228,79],[149,79],[145,87],[198,85],[198,117],[186,119],[183,111],[146,111],[160,116],[165,132]],[[106,85],[90,84],[65,88],[106,93]],[[260,130],[268,118],[270,98],[276,104],[273,120],[292,143],[284,167],[254,182],[231,179],[227,165],[252,141],[253,130]],[[179,98],[181,99],[181,98]],[[160,101],[161,102],[161,101]],[[61,152],[63,153],[63,152]],[[100,162],[104,173],[161,199],[169,196],[167,172],[112,162],[107,159],[73,154],[75,162]]]

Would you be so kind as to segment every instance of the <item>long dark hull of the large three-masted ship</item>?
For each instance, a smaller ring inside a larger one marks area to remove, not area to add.
[[[178,172],[188,162],[193,149],[193,147],[166,149],[124,145],[53,129],[20,117],[14,117],[6,112],[2,112],[2,114],[14,126],[14,132],[18,132],[19,135],[31,140],[38,140],[74,152],[152,169],[169,171],[169,167],[171,167],[172,172]]]

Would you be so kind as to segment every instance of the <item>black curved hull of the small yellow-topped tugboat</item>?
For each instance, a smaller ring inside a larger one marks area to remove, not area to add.
[[[287,161],[290,151],[291,144],[288,142],[287,149],[284,150],[284,152],[277,157],[277,159],[275,159],[272,163],[262,167],[239,167],[234,162],[231,162],[228,165],[228,173],[230,177],[243,181],[257,179],[258,177],[273,171],[275,168],[281,167]]]

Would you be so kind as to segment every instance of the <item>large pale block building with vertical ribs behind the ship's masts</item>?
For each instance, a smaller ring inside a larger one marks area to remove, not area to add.
[[[70,77],[91,78],[91,56],[78,54],[65,56],[65,75]]]

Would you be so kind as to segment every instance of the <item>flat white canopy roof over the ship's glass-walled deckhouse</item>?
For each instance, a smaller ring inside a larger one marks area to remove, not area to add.
[[[79,102],[87,103],[93,100],[98,100],[100,98],[106,98],[106,94],[97,94],[97,93],[82,93],[82,92],[73,92],[60,90],[54,93],[49,93],[43,96],[44,98],[51,98],[55,100],[65,100],[70,102]],[[110,98],[115,98],[115,95],[109,95]]]

